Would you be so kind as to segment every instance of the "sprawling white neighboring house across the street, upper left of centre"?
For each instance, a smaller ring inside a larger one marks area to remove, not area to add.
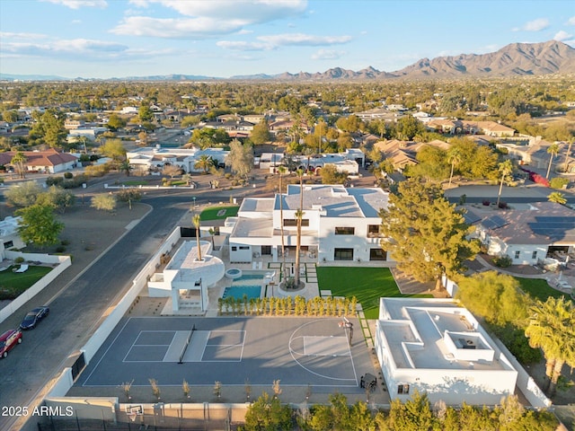
[[[162,170],[166,165],[179,166],[184,172],[202,172],[195,167],[202,155],[208,155],[217,161],[218,165],[226,163],[229,151],[222,148],[158,148],[143,147],[128,151],[128,163],[140,172]]]

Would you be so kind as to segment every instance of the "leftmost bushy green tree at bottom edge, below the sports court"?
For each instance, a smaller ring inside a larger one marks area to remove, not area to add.
[[[276,431],[292,429],[292,413],[288,405],[282,405],[278,398],[267,392],[255,400],[245,412],[244,431]]]

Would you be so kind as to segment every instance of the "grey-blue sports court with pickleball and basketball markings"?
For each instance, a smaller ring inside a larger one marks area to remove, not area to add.
[[[358,321],[351,320],[351,325]],[[121,321],[76,385],[118,387],[313,385],[334,391],[358,388],[370,370],[367,347],[338,318],[132,317]],[[352,333],[352,332],[351,332]]]

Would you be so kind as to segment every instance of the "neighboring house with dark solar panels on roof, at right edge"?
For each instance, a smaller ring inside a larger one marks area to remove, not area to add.
[[[518,207],[516,205],[516,207]],[[513,265],[535,265],[575,246],[575,211],[553,202],[526,204],[526,209],[482,210],[466,206],[465,218],[491,256],[509,256]]]

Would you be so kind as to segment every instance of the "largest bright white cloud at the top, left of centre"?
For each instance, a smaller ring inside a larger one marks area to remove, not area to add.
[[[113,33],[171,39],[206,39],[243,31],[248,25],[302,14],[307,7],[307,0],[130,0],[130,4],[139,8],[160,4],[182,16],[171,19],[131,16],[112,29]]]

